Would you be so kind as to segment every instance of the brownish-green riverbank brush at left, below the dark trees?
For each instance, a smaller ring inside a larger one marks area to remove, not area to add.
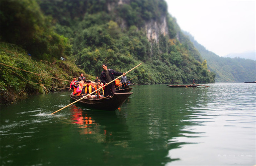
[[[0,46],[0,63],[5,64],[0,65],[1,104],[26,98],[28,94],[68,90],[70,81],[63,80],[73,80],[72,76],[79,76],[79,72],[82,72],[74,66],[73,60],[37,61],[33,60],[20,46],[4,42],[1,42]],[[93,79],[94,77],[86,75],[86,78]]]

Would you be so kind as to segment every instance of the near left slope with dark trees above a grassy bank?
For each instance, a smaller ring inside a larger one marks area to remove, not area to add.
[[[73,76],[84,72],[69,57],[68,38],[55,32],[36,1],[1,1],[0,5],[0,103],[68,90]]]

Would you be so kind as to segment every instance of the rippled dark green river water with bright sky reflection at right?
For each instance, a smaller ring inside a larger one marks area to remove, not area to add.
[[[1,165],[256,164],[256,83],[134,86],[116,111],[70,91],[1,105]]]

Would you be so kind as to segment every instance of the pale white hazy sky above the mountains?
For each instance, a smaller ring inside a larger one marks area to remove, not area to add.
[[[180,28],[219,56],[256,50],[256,0],[166,0]]]

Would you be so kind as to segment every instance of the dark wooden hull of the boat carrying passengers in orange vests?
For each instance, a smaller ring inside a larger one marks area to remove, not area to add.
[[[105,98],[83,98],[78,103],[83,104],[86,107],[93,109],[100,109],[106,111],[115,111],[118,109],[125,100],[133,94],[129,93],[115,93],[113,96],[107,96]],[[81,96],[74,96],[70,94],[70,98],[74,101],[81,98]]]

